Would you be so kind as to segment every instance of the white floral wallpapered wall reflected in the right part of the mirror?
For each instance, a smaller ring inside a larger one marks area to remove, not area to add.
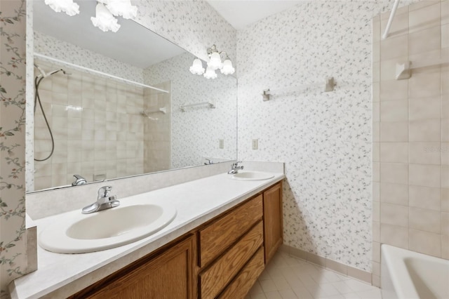
[[[145,69],[145,82],[159,84],[171,79],[172,145],[171,166],[180,168],[199,165],[204,158],[236,158],[236,78],[217,71],[217,79],[206,79],[189,72],[194,56],[190,53]],[[205,65],[205,64],[204,64]],[[214,102],[215,109],[206,106],[186,109],[185,104]],[[220,149],[218,140],[224,140]]]

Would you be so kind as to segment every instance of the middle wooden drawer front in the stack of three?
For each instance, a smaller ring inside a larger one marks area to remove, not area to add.
[[[215,298],[263,243],[262,221],[200,274],[201,298]]]

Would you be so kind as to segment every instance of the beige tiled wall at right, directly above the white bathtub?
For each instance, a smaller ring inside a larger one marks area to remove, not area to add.
[[[373,275],[380,244],[449,259],[449,1],[373,19]],[[396,62],[446,63],[396,80]]]

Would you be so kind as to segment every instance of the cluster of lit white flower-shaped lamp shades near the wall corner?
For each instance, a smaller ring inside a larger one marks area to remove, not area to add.
[[[222,54],[225,54],[225,61],[222,62]],[[232,61],[229,59],[229,56],[226,52],[219,52],[215,45],[208,48],[209,61],[208,66],[206,68],[206,72],[204,71],[203,63],[199,58],[196,58],[190,67],[190,72],[192,74],[203,75],[207,79],[215,79],[217,78],[217,74],[215,73],[216,69],[220,69],[222,74],[234,74],[236,69],[232,66]]]

